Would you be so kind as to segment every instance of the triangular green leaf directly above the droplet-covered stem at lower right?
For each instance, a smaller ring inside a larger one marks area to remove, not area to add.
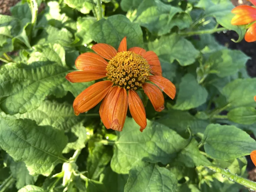
[[[212,165],[211,162],[200,153],[198,149],[198,142],[195,139],[192,139],[189,145],[178,154],[175,161],[184,163],[186,167]]]

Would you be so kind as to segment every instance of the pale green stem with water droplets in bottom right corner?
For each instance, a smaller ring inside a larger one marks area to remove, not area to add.
[[[256,183],[253,181],[250,181],[250,180],[240,177],[238,175],[232,174],[232,173],[230,173],[229,170],[226,170],[226,169],[222,169],[219,167],[213,167],[213,166],[205,166],[205,167],[209,168],[210,170],[212,170],[215,173],[222,174],[223,176],[227,177],[230,181],[234,181],[236,183],[239,183],[240,185],[248,187],[250,190],[256,191]]]

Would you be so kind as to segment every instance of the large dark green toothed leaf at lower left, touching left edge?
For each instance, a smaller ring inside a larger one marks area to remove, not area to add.
[[[66,161],[61,154],[66,144],[63,131],[29,119],[1,118],[1,148],[15,161],[24,161],[31,175],[49,176],[56,164]]]

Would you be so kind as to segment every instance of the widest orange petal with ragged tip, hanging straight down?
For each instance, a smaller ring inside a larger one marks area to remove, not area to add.
[[[128,96],[125,88],[111,87],[100,105],[100,117],[107,129],[122,131],[128,109]]]

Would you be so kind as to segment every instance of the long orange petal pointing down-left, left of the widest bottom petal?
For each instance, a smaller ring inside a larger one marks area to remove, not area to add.
[[[100,81],[81,92],[73,103],[75,114],[79,115],[95,107],[108,94],[112,85],[111,81]]]

